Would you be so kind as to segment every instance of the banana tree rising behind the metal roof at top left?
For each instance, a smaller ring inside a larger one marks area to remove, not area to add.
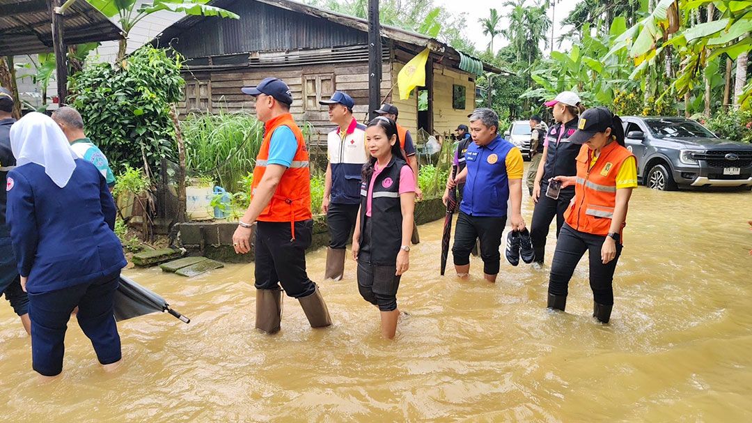
[[[117,63],[123,62],[128,47],[128,35],[144,17],[159,11],[171,11],[186,15],[218,16],[239,19],[238,14],[223,8],[207,5],[209,0],[153,0],[136,7],[137,0],[87,0],[106,17],[117,17],[123,29],[123,39],[117,51]]]

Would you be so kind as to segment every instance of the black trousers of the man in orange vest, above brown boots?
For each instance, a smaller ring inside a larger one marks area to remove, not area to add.
[[[256,289],[278,290],[280,284],[293,298],[308,297],[316,284],[305,271],[305,250],[311,246],[314,221],[295,222],[295,239],[290,222],[256,224]]]

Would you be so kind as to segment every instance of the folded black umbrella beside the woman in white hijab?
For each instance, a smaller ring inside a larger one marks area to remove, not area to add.
[[[171,309],[164,298],[138,285],[132,279],[120,275],[120,285],[118,285],[117,291],[115,291],[116,321],[162,312],[168,312],[179,318],[180,321],[190,323],[190,318],[186,318],[179,312]]]

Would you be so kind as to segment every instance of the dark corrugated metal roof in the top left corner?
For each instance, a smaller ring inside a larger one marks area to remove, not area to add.
[[[65,12],[65,44],[117,40],[122,30],[86,0]],[[46,0],[0,0],[2,56],[47,53],[52,47],[52,19]]]

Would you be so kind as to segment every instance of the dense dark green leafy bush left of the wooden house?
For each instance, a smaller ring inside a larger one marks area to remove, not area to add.
[[[147,45],[132,53],[122,68],[100,63],[69,79],[75,93],[69,101],[114,169],[146,166],[151,174],[162,158],[174,160],[169,111],[182,96],[181,65],[173,50]]]

